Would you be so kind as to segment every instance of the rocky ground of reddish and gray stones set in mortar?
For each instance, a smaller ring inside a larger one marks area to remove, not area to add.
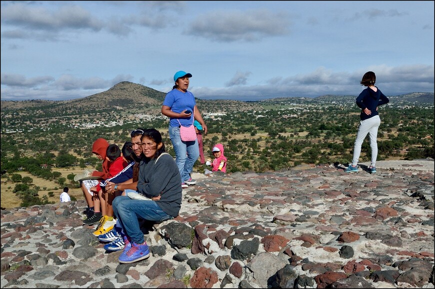
[[[194,174],[119,264],[83,200],[1,210],[1,288],[434,288],[433,160]]]

